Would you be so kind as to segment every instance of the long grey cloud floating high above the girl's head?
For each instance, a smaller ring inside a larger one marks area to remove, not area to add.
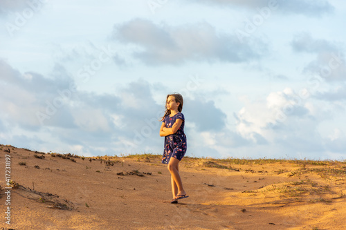
[[[267,50],[261,39],[242,44],[236,36],[217,33],[208,23],[173,27],[134,19],[114,26],[113,39],[138,46],[133,57],[149,65],[186,61],[238,63],[260,59]]]

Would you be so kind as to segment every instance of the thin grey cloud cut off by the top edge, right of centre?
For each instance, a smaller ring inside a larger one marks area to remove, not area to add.
[[[306,15],[308,17],[320,17],[334,12],[334,6],[326,0],[201,0],[198,2],[208,3],[212,6],[235,6],[254,10],[273,6],[284,14]]]

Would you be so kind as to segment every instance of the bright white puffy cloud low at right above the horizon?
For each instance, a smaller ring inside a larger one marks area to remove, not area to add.
[[[255,146],[266,146],[268,154],[275,147],[295,157],[323,158],[326,151],[331,153],[334,148],[329,148],[329,141],[322,137],[324,133],[318,126],[332,119],[333,108],[302,99],[293,89],[286,88],[269,93],[266,99],[246,101],[235,113],[236,131]]]

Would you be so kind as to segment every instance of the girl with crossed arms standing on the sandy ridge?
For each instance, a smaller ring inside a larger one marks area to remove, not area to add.
[[[163,151],[162,163],[168,164],[171,173],[173,200],[188,198],[179,175],[178,164],[186,153],[186,136],[184,133],[185,118],[183,113],[183,97],[179,93],[167,95],[166,111],[161,121],[160,136],[165,137],[165,151]]]

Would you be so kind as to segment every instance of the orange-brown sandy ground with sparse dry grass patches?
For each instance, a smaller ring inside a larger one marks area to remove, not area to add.
[[[184,157],[190,197],[178,204],[157,155],[82,160],[1,145],[0,169],[0,229],[346,229],[346,162]]]

